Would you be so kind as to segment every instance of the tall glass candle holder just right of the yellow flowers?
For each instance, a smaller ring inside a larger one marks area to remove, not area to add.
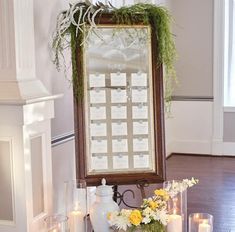
[[[187,189],[182,181],[165,181],[163,188],[170,193],[167,210],[170,215],[167,232],[187,232]]]

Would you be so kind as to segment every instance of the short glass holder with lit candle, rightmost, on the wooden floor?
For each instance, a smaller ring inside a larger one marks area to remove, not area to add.
[[[207,213],[190,214],[189,232],[213,232],[213,216]]]

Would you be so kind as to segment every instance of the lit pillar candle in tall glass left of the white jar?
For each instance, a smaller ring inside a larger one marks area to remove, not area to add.
[[[69,213],[69,228],[70,232],[84,232],[84,215],[81,211],[74,210]]]

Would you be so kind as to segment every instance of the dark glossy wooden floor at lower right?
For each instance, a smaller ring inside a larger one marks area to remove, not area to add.
[[[167,179],[195,177],[188,191],[188,213],[214,216],[213,232],[235,232],[235,157],[173,155],[167,160]]]

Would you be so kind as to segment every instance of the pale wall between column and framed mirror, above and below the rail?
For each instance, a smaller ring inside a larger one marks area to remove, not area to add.
[[[67,0],[34,0],[36,75],[53,94],[64,96],[55,102],[52,137],[74,130],[72,88],[63,72],[57,72],[51,61],[50,42],[58,13],[68,7]],[[68,73],[68,77],[70,74]],[[52,147],[54,212],[63,211],[64,182],[75,179],[74,141]]]

